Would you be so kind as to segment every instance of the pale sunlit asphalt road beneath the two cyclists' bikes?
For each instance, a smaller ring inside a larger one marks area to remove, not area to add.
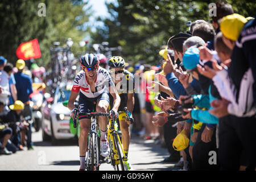
[[[53,146],[51,142],[42,142],[42,131],[32,134],[34,150],[17,151],[12,155],[0,155],[0,171],[77,171],[79,169],[79,147],[72,140],[61,141]],[[129,160],[134,170],[171,170],[174,163],[162,163],[168,156],[166,148],[155,144],[154,140],[143,140],[132,135]],[[100,170],[113,171],[110,164],[103,163]]]

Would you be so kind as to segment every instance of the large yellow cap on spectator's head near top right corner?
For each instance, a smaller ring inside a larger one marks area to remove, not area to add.
[[[247,19],[240,14],[225,16],[221,20],[220,31],[226,38],[236,41],[246,22]]]

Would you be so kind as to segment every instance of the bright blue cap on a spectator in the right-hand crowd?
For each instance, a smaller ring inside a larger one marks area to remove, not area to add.
[[[199,52],[200,51],[197,47],[189,47],[187,51],[185,51],[183,56],[183,65],[186,69],[196,68],[200,61]]]

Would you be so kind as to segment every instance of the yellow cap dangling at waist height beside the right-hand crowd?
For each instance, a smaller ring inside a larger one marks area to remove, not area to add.
[[[187,135],[185,135],[185,131],[182,130],[174,139],[174,142],[172,143],[172,147],[174,147],[174,150],[181,151],[188,147],[189,139]]]

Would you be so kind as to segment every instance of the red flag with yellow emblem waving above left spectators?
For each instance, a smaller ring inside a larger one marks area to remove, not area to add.
[[[16,55],[19,59],[28,60],[31,58],[41,57],[41,51],[38,44],[38,39],[30,40],[29,42],[21,43],[16,50]]]

